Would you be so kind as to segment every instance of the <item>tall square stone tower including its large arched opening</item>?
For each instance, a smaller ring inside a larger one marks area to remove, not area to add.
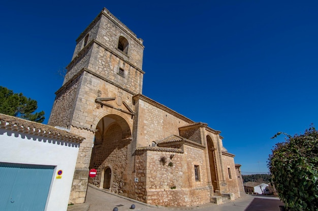
[[[72,203],[84,202],[88,171],[93,167],[100,178],[91,183],[125,196],[133,189],[133,96],[142,93],[143,50],[143,40],[106,8],[76,40],[48,123],[85,137],[76,163]]]

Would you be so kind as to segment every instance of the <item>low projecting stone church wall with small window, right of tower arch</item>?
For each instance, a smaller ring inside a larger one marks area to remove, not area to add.
[[[160,162],[162,157],[166,157],[165,165]],[[162,206],[210,202],[203,149],[184,146],[184,153],[147,151],[136,156],[136,161],[140,172],[136,177],[141,182],[136,184],[136,190],[140,190],[138,200]],[[142,164],[147,164],[144,170]],[[199,165],[200,181],[195,180],[194,165]],[[142,196],[144,190],[146,195]]]

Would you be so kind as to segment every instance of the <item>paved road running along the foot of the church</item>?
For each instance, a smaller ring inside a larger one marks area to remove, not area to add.
[[[131,205],[135,204],[135,209]],[[86,202],[84,204],[70,205],[68,211],[112,211],[118,207],[118,211],[171,211],[189,210],[196,211],[279,211],[279,205],[283,203],[274,197],[245,195],[225,204],[216,205],[213,203],[199,206],[185,207],[163,207],[145,204],[130,198],[118,196],[105,190],[89,185],[87,189]]]

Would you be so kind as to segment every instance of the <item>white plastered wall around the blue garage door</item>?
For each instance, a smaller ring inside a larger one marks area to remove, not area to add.
[[[0,129],[0,149],[0,162],[56,166],[45,210],[67,210],[78,143]],[[61,179],[56,179],[58,170],[63,171]]]

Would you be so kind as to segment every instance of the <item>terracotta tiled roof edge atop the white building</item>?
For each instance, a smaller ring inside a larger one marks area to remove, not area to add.
[[[47,124],[29,121],[6,114],[0,114],[0,128],[74,143],[82,143],[85,139],[84,137],[54,128]]]

